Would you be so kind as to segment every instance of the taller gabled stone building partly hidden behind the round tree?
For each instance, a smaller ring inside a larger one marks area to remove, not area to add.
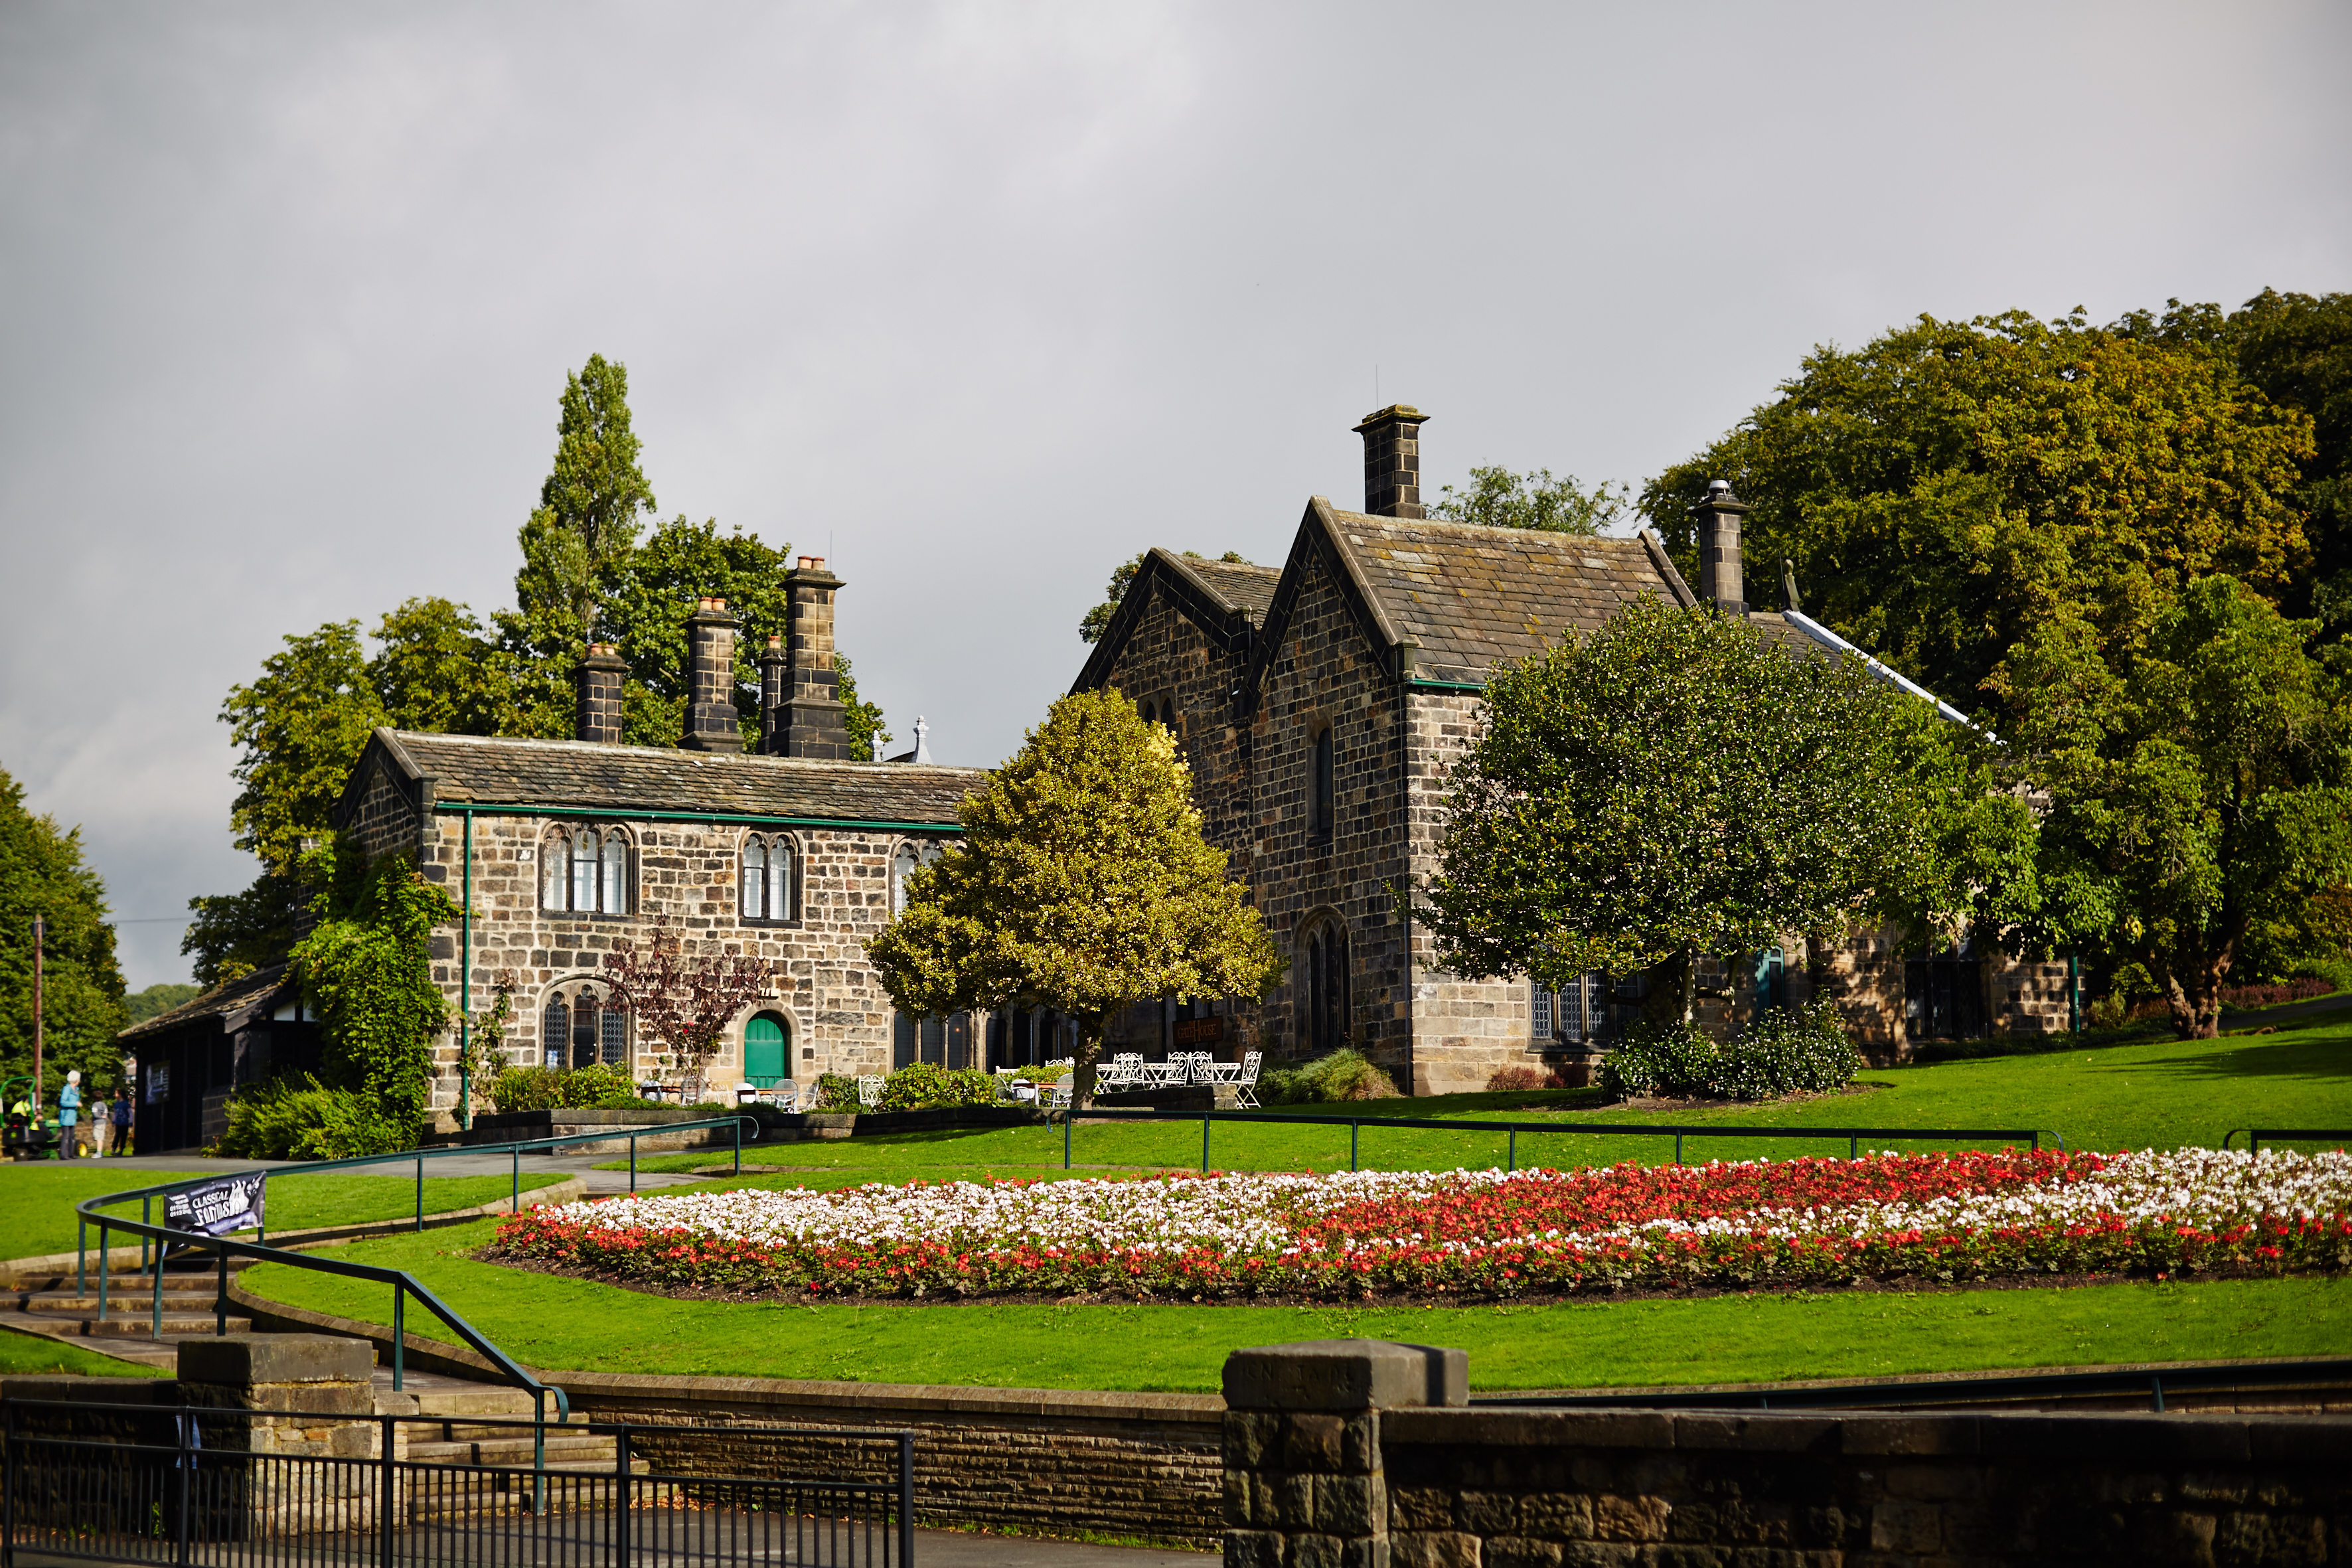
[[[1639,976],[1588,976],[1566,992],[1463,980],[1430,966],[1432,938],[1395,896],[1435,872],[1444,773],[1468,745],[1486,672],[1562,628],[1602,628],[1637,595],[1712,602],[1795,651],[1856,654],[1795,607],[1748,607],[1748,508],[1729,489],[1700,508],[1693,592],[1649,529],[1576,538],[1428,517],[1423,423],[1397,404],[1357,425],[1364,510],[1310,498],[1279,569],[1152,550],[1073,686],[1117,686],[1176,733],[1211,842],[1291,959],[1265,1004],[1131,1011],[1129,1046],[1298,1058],[1352,1044],[1411,1093],[1581,1060],[1639,1009]],[[1712,961],[1703,985],[1724,992],[1705,1009],[1712,1030],[1818,992],[1889,1056],[1936,1034],[2065,1023],[2060,966],[1912,954],[1886,933]]]

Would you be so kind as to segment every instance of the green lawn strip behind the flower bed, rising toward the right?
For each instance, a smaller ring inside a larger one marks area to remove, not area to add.
[[[2244,1126],[2352,1128],[2352,1018],[2321,1016],[2291,1023],[2279,1034],[2204,1041],[2145,1041],[2098,1051],[2009,1056],[1933,1067],[1889,1067],[1863,1074],[1870,1093],[1830,1095],[1783,1105],[1748,1105],[1698,1112],[1632,1110],[1508,1110],[1498,1100],[1534,1095],[1446,1095],[1432,1100],[1376,1100],[1357,1107],[1298,1107],[1329,1114],[1376,1117],[1470,1117],[1510,1119],[1531,1128],[1578,1128],[1609,1121],[1672,1124],[1689,1128],[1748,1126],[1907,1126],[1907,1128],[2034,1128],[2058,1133],[2074,1150],[2218,1145]],[[1465,1100],[1470,1105],[1465,1105]],[[1867,1140],[1889,1147],[1893,1140]],[[2241,1140],[2244,1143],[2244,1140]],[[1197,1121],[1089,1124],[1073,1135],[1080,1166],[1200,1168]],[[1955,1147],[1955,1145],[1905,1145]],[[1766,1140],[1693,1138],[1686,1159],[1790,1159],[1795,1154],[1844,1154],[1844,1138]],[[901,1138],[849,1138],[837,1143],[769,1145],[748,1159],[807,1171],[809,1185],[835,1178],[906,1180],[995,1171],[1035,1175],[1061,1168],[1063,1131],[1023,1126],[974,1133],[908,1133]],[[1503,1133],[1439,1133],[1367,1126],[1357,1138],[1367,1168],[1501,1166]],[[1675,1157],[1672,1138],[1578,1135],[1573,1131],[1519,1133],[1522,1166],[1585,1166],[1635,1159],[1658,1164]],[[691,1171],[710,1166],[710,1154],[670,1154],[640,1168]],[[1209,1164],[1221,1171],[1331,1171],[1348,1166],[1348,1128],[1232,1124],[1209,1131]]]

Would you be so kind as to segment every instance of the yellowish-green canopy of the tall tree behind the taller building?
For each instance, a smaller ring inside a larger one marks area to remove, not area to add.
[[[1919,317],[1818,348],[1642,512],[1696,569],[1689,508],[1729,480],[1752,574],[1792,559],[1811,614],[1969,705],[2049,607],[2122,574],[2277,597],[2305,562],[2312,418],[2239,374],[2211,315]]]

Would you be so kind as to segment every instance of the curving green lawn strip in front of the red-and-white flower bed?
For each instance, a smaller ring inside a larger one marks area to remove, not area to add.
[[[844,1307],[696,1302],[468,1258],[492,1225],[379,1237],[339,1255],[405,1267],[529,1366],[1214,1392],[1225,1352],[1315,1338],[1461,1345],[1479,1389],[1870,1378],[2004,1366],[2314,1356],[2352,1345],[2352,1281],[2258,1279],[1724,1295],[1545,1307]],[[263,1265],[261,1295],[383,1321],[376,1286]],[[423,1333],[409,1309],[412,1333]]]

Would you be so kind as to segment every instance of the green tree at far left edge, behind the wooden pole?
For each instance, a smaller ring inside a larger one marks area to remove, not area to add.
[[[0,1074],[33,1070],[33,917],[42,917],[42,1086],[66,1072],[113,1079],[122,1027],[122,969],[106,924],[106,884],[82,860],[82,830],[24,806],[0,769]]]

